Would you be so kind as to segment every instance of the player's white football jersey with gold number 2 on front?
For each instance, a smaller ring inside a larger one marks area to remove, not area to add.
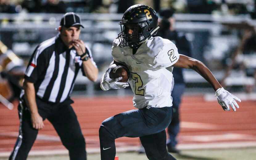
[[[116,38],[112,46],[114,61],[125,64],[130,72],[129,84],[134,93],[133,105],[172,106],[171,90],[174,80],[172,68],[180,55],[177,47],[168,39],[151,37],[138,48],[136,54],[129,46],[120,47]]]

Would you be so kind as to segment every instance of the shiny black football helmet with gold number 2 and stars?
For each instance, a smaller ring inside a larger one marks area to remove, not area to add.
[[[137,48],[141,42],[157,33],[158,16],[156,11],[142,4],[130,6],[119,22],[121,32],[118,34],[120,46]]]

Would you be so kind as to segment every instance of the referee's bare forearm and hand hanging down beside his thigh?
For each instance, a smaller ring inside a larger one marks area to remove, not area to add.
[[[26,104],[29,107],[31,113],[32,126],[35,129],[42,129],[44,127],[43,118],[39,115],[36,101],[35,101],[35,87],[34,83],[27,80],[23,83],[23,88],[25,91]]]

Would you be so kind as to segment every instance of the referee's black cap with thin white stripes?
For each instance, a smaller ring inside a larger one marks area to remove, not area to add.
[[[60,26],[65,26],[69,28],[75,25],[80,25],[81,27],[85,28],[81,24],[81,18],[78,14],[75,14],[74,12],[68,12],[64,14],[64,16],[61,18]]]

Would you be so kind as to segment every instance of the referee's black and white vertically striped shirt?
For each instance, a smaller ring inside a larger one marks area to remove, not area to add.
[[[86,52],[96,66],[88,46]],[[69,98],[80,68],[85,76],[80,56],[74,48],[68,49],[58,34],[36,47],[27,66],[25,79],[34,83],[37,97],[59,103]]]

